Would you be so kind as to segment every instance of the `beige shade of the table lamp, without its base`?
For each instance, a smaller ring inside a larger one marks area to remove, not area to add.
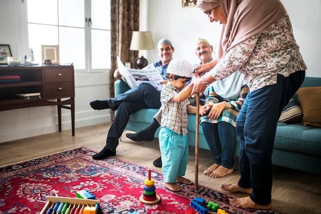
[[[152,33],[150,31],[133,31],[130,50],[151,50],[154,48]]]

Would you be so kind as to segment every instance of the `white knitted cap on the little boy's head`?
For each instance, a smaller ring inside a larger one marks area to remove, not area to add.
[[[182,58],[175,58],[168,64],[167,73],[172,73],[182,77],[192,77],[193,66]]]

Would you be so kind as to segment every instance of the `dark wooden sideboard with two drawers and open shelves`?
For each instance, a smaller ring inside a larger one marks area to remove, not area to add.
[[[58,128],[62,131],[62,108],[71,110],[75,135],[75,84],[72,65],[0,66],[0,76],[18,75],[21,82],[0,83],[0,111],[56,105]],[[25,100],[16,93],[41,93],[41,98]]]

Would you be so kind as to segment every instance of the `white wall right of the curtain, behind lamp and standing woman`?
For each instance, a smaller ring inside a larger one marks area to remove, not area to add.
[[[309,0],[308,3],[302,3],[299,0],[281,0],[281,2],[289,13],[295,39],[308,66],[306,75],[321,77],[319,68],[321,1]],[[148,1],[147,30],[152,31],[155,44],[160,38],[169,38],[175,47],[173,57],[183,57],[193,64],[198,62],[194,52],[197,38],[206,38],[214,44],[218,41],[220,24],[210,23],[207,15],[197,7],[182,8],[181,3],[180,0]],[[148,51],[147,59],[149,62],[159,60],[156,49]]]

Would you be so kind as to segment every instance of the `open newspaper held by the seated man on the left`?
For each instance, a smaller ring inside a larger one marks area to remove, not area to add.
[[[122,75],[122,80],[127,83],[130,88],[134,88],[141,83],[149,83],[154,86],[158,91],[162,90],[162,84],[164,81],[162,75],[156,68],[153,69],[128,69],[122,63],[119,56],[117,56],[117,64],[119,73]]]

